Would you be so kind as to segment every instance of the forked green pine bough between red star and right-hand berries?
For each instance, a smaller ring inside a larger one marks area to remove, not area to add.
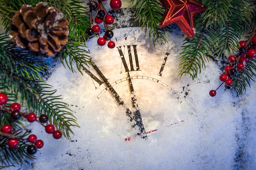
[[[178,64],[178,75],[189,74],[192,79],[205,67],[207,53],[224,57],[237,50],[245,25],[253,16],[252,2],[248,0],[202,0],[202,4],[207,9],[194,18],[197,33],[185,40]]]

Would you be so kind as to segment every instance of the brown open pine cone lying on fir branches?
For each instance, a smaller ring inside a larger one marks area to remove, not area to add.
[[[68,21],[62,13],[40,2],[36,7],[24,4],[11,23],[11,41],[34,56],[52,57],[67,44]]]

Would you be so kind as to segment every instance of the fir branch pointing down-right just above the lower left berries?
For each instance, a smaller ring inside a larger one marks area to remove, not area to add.
[[[8,77],[0,77],[0,83],[9,82],[13,93],[21,94],[20,102],[27,104],[28,112],[35,112],[38,115],[45,114],[49,117],[49,123],[61,130],[63,136],[70,139],[70,133],[73,134],[72,127],[79,127],[76,123],[72,110],[65,102],[61,102],[61,97],[54,96],[56,90],[47,90],[51,86],[45,81],[25,79],[16,74]]]

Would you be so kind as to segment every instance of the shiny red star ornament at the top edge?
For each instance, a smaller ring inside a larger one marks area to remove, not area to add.
[[[196,0],[160,0],[166,9],[159,28],[176,23],[188,38],[195,35],[194,15],[207,7]]]

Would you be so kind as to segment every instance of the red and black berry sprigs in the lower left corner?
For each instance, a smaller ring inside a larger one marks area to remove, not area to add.
[[[21,117],[27,118],[27,121],[29,122],[38,122],[42,126],[45,127],[45,131],[47,133],[52,133],[53,137],[55,139],[60,139],[62,137],[62,133],[60,130],[55,130],[54,125],[48,124],[44,125],[48,121],[47,115],[40,115],[39,120],[37,120],[37,115],[35,113],[23,113],[20,112],[20,104],[13,103],[10,106],[5,106],[5,104],[8,102],[8,97],[5,93],[0,93],[0,110],[10,113],[11,119],[14,121],[20,119]],[[13,131],[13,128],[9,124],[5,124],[0,129],[1,133],[0,135],[3,135],[8,138],[7,145],[10,148],[16,148],[19,144],[19,141],[27,141],[31,144],[27,145],[27,152],[31,155],[36,154],[37,149],[43,148],[44,142],[43,140],[37,139],[36,135],[29,135],[27,139],[16,137],[15,135],[9,135]]]

